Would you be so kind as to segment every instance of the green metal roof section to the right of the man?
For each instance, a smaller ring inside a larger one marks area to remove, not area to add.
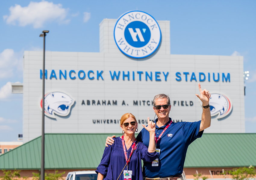
[[[256,165],[256,134],[203,134],[189,145],[184,167]]]

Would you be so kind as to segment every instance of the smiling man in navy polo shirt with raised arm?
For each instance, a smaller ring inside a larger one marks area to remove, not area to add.
[[[189,144],[201,137],[204,129],[210,127],[209,99],[211,94],[206,89],[202,90],[200,83],[198,83],[198,88],[200,95],[196,94],[196,96],[203,103],[202,119],[198,122],[173,123],[171,118],[169,118],[171,109],[170,98],[164,94],[155,96],[153,109],[158,117],[155,120],[155,140],[156,149],[159,151],[159,158],[152,163],[144,163],[143,177],[146,180],[154,180],[155,178],[160,178],[160,180],[176,180],[181,178]],[[148,132],[142,129],[136,140],[148,146],[148,137]],[[106,139],[106,146],[112,143],[114,143],[113,139],[108,137]],[[199,154],[195,156],[199,156]]]

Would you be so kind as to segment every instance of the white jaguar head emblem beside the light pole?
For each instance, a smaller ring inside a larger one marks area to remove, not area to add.
[[[63,92],[49,92],[45,95],[45,116],[56,118],[58,116],[68,116],[75,101]],[[42,110],[42,99],[40,104]]]

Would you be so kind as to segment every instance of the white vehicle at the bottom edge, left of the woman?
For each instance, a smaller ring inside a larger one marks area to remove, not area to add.
[[[95,171],[73,171],[67,174],[65,180],[97,180]]]

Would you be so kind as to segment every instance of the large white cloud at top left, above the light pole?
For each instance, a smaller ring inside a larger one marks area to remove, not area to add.
[[[34,28],[40,28],[45,22],[56,21],[59,23],[68,23],[66,19],[68,9],[62,8],[62,4],[53,4],[48,1],[33,2],[30,1],[26,7],[15,4],[10,7],[10,15],[3,16],[7,24],[27,26],[32,24]]]

